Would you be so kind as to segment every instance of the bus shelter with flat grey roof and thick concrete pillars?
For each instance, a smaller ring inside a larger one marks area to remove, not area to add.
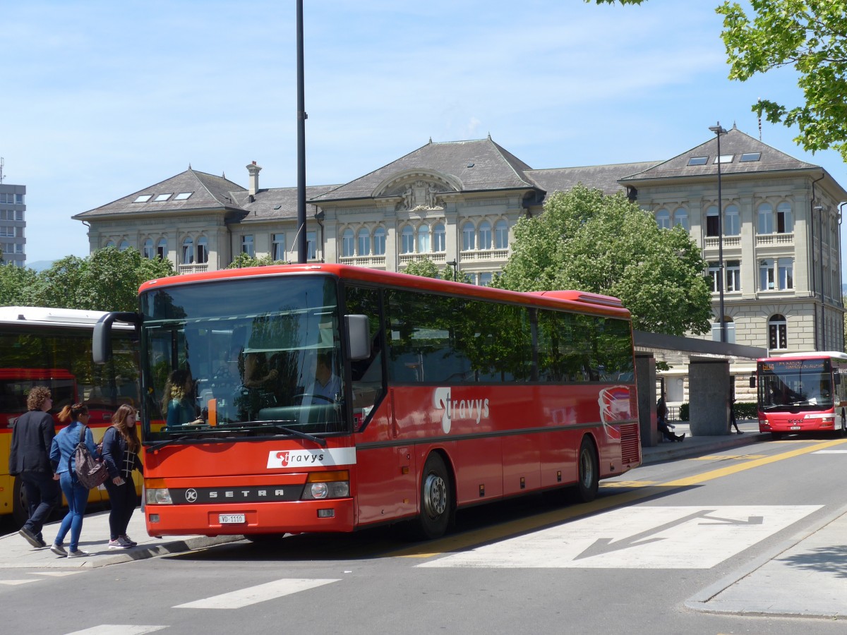
[[[729,433],[730,366],[767,357],[767,349],[756,346],[645,331],[634,331],[634,348],[639,428],[644,446],[658,442],[656,362],[688,367],[691,433],[695,436],[718,436]]]

